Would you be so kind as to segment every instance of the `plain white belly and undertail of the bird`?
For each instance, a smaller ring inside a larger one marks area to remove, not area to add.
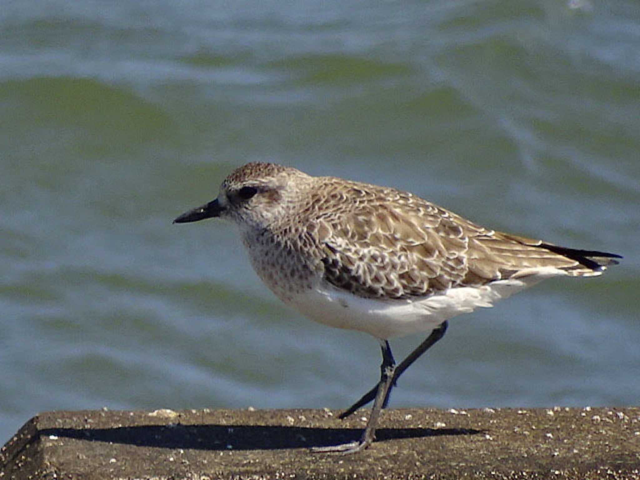
[[[477,307],[493,307],[497,300],[558,275],[566,273],[555,268],[536,269],[521,273],[517,279],[498,280],[482,287],[456,287],[412,300],[361,298],[333,285],[323,284],[287,303],[319,323],[389,339],[431,332],[445,320],[472,312]]]

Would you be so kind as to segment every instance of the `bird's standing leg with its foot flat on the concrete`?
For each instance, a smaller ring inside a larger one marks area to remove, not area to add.
[[[378,425],[378,417],[383,408],[383,404],[387,399],[388,391],[394,381],[394,372],[396,371],[396,360],[391,353],[389,342],[384,340],[380,342],[380,348],[382,350],[382,364],[380,365],[380,383],[376,387],[376,395],[371,408],[371,415],[367,426],[360,437],[358,442],[351,442],[350,444],[332,445],[331,447],[315,447],[312,449],[314,452],[340,452],[343,454],[355,453],[364,450],[371,442],[376,438],[376,426]]]

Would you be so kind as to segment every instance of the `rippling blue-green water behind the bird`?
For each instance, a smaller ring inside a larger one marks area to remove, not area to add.
[[[3,442],[43,410],[375,383],[375,340],[287,310],[227,225],[171,224],[248,161],[625,255],[454,319],[392,406],[638,404],[637,1],[22,0],[0,31]]]

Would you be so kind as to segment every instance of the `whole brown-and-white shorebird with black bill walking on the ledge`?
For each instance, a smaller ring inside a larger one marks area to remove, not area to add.
[[[396,381],[445,335],[448,320],[554,276],[598,276],[622,258],[482,227],[417,195],[275,163],[231,172],[211,202],[175,218],[235,224],[253,269],[285,304],[380,342],[380,381],[340,415],[373,401],[360,438],[315,452],[353,454],[375,439]],[[396,364],[389,339],[426,339]]]

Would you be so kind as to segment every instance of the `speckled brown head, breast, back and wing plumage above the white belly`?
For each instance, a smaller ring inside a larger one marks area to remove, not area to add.
[[[257,193],[245,200],[239,192],[247,186]],[[276,164],[237,168],[218,200],[260,278],[284,301],[319,284],[363,298],[418,300],[540,269],[600,275],[612,262],[606,253],[495,232],[394,188]]]

